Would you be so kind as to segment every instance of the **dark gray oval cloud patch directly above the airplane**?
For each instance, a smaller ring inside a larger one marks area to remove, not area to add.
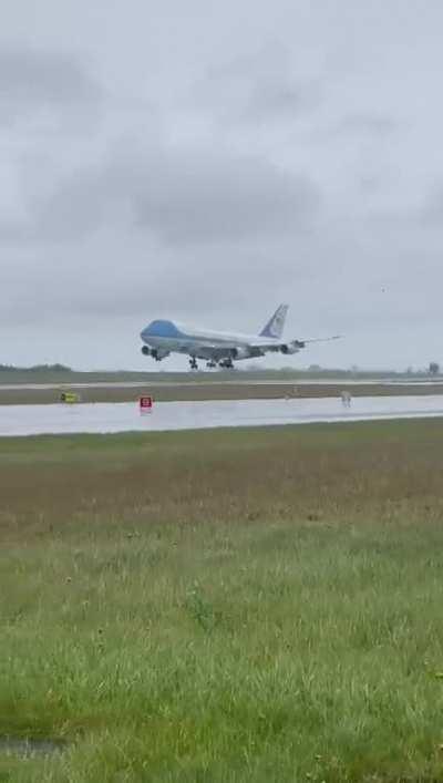
[[[246,156],[165,156],[142,168],[142,178],[135,199],[138,223],[173,243],[291,233],[319,205],[308,179]]]

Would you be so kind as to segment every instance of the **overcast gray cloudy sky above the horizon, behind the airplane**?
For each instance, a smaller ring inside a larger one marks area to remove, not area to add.
[[[274,363],[443,361],[442,34],[441,0],[2,0],[0,363],[145,369],[152,318],[280,301],[346,339]]]

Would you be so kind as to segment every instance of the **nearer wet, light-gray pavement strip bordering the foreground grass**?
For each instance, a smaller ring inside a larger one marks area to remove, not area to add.
[[[0,406],[0,436],[153,432],[218,426],[443,416],[443,395],[158,402],[141,414],[134,402]]]

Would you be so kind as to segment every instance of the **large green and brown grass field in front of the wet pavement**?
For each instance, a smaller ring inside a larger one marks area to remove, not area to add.
[[[0,781],[443,781],[442,444],[0,441]]]

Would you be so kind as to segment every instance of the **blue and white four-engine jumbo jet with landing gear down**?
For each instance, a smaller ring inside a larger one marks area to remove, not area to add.
[[[231,370],[234,362],[256,359],[266,353],[298,353],[309,342],[339,339],[339,334],[312,340],[282,340],[288,305],[280,305],[258,336],[229,334],[186,327],[169,320],[154,320],[141,332],[142,353],[162,361],[169,353],[185,353],[189,357],[192,370],[198,370],[198,359],[208,368]]]

